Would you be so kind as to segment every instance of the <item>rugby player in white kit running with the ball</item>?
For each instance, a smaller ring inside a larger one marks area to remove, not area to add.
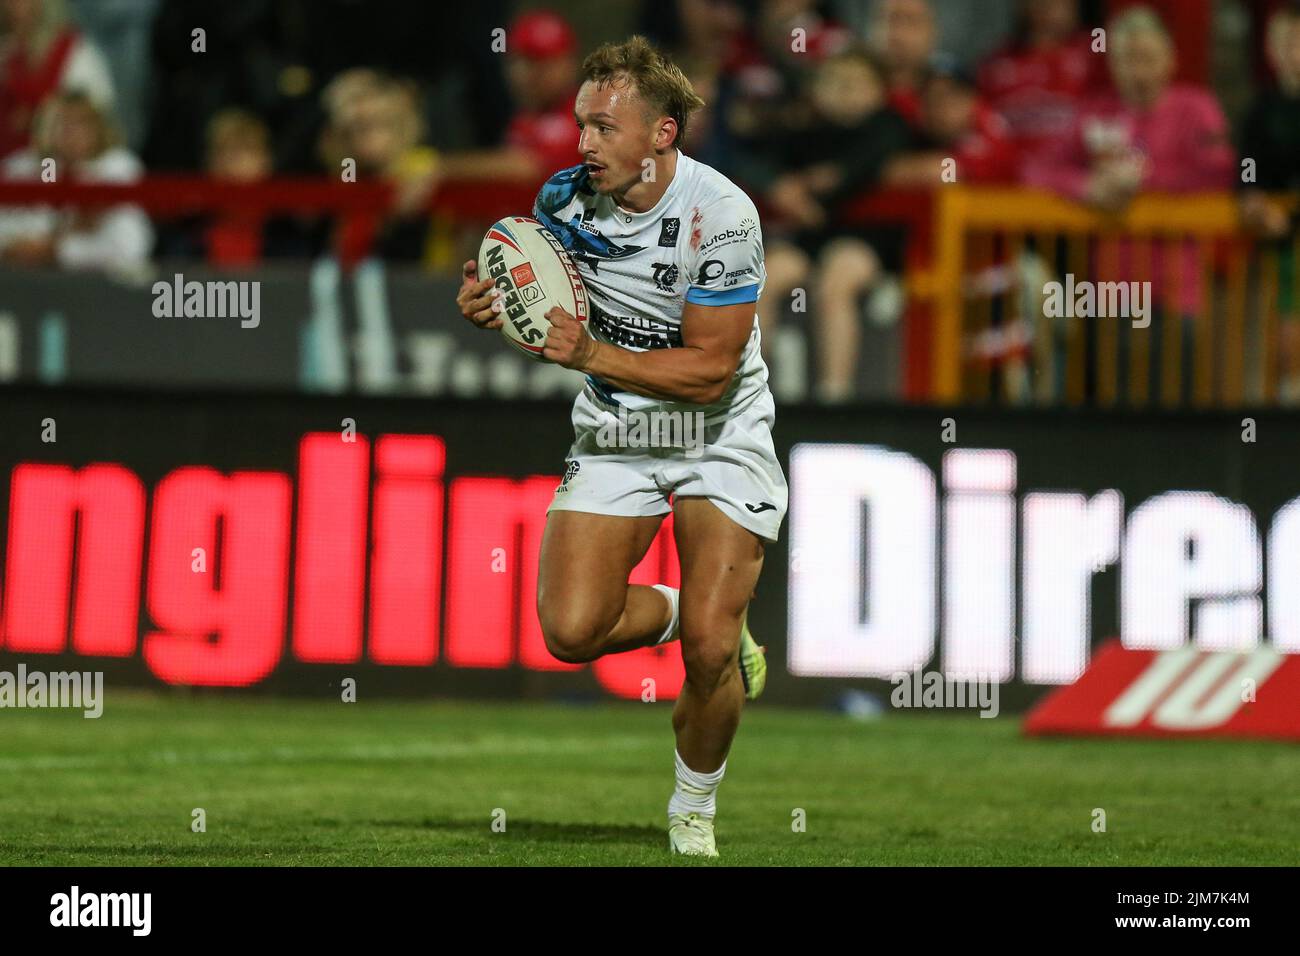
[[[745,193],[682,152],[703,101],[646,39],[601,47],[582,81],[582,161],[555,173],[533,207],[578,264],[590,303],[585,325],[560,308],[546,316],[545,358],[585,372],[586,385],[547,512],[537,613],[567,662],[681,641],[668,844],[718,856],[715,792],[745,700],[767,679],[746,610],[788,498],[759,351],[763,238]],[[464,264],[456,304],[480,328],[500,328],[494,291]],[[620,414],[692,415],[703,434],[696,447],[610,446],[602,436]],[[629,585],[670,511],[680,593]]]

